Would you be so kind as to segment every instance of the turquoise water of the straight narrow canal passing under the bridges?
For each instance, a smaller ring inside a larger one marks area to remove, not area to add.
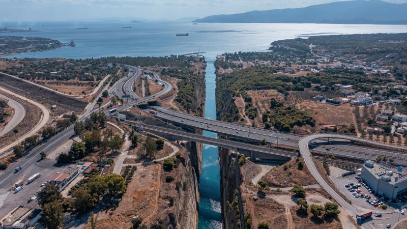
[[[206,58],[207,61],[214,61]],[[206,68],[205,118],[216,119],[215,87],[216,75],[213,63]],[[217,137],[216,133],[203,131],[203,135]],[[220,170],[218,147],[203,144],[202,168],[199,178],[199,221],[198,228],[222,228],[220,207]]]

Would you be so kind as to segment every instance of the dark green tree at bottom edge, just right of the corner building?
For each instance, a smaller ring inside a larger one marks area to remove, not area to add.
[[[48,229],[58,229],[64,220],[64,210],[57,201],[42,206],[41,222]]]

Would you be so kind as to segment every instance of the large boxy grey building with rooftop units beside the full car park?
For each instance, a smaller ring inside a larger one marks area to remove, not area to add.
[[[362,166],[361,178],[373,192],[396,199],[407,192],[407,171],[386,162],[377,164],[366,161]]]

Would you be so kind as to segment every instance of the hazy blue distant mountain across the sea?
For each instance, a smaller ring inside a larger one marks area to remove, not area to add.
[[[214,15],[194,22],[407,24],[407,3],[381,0],[335,2],[296,9]]]

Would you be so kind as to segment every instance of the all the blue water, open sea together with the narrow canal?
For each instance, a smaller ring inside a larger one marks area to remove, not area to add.
[[[130,23],[99,22],[7,22],[0,27],[23,28],[39,32],[0,34],[0,36],[40,36],[62,42],[73,40],[76,47],[62,47],[44,52],[22,53],[18,58],[98,58],[101,56],[165,56],[204,52],[208,61],[217,54],[235,51],[261,51],[281,39],[315,35],[357,33],[405,33],[407,25],[344,25],[285,23],[199,23],[185,21],[155,21]],[[131,26],[131,28],[122,28]],[[88,27],[88,30],[77,28]],[[187,37],[176,37],[188,33]],[[206,74],[205,117],[216,119],[215,68],[208,64]],[[205,131],[206,136],[216,137]],[[199,228],[222,228],[220,207],[220,174],[218,149],[204,145],[200,176]]]

